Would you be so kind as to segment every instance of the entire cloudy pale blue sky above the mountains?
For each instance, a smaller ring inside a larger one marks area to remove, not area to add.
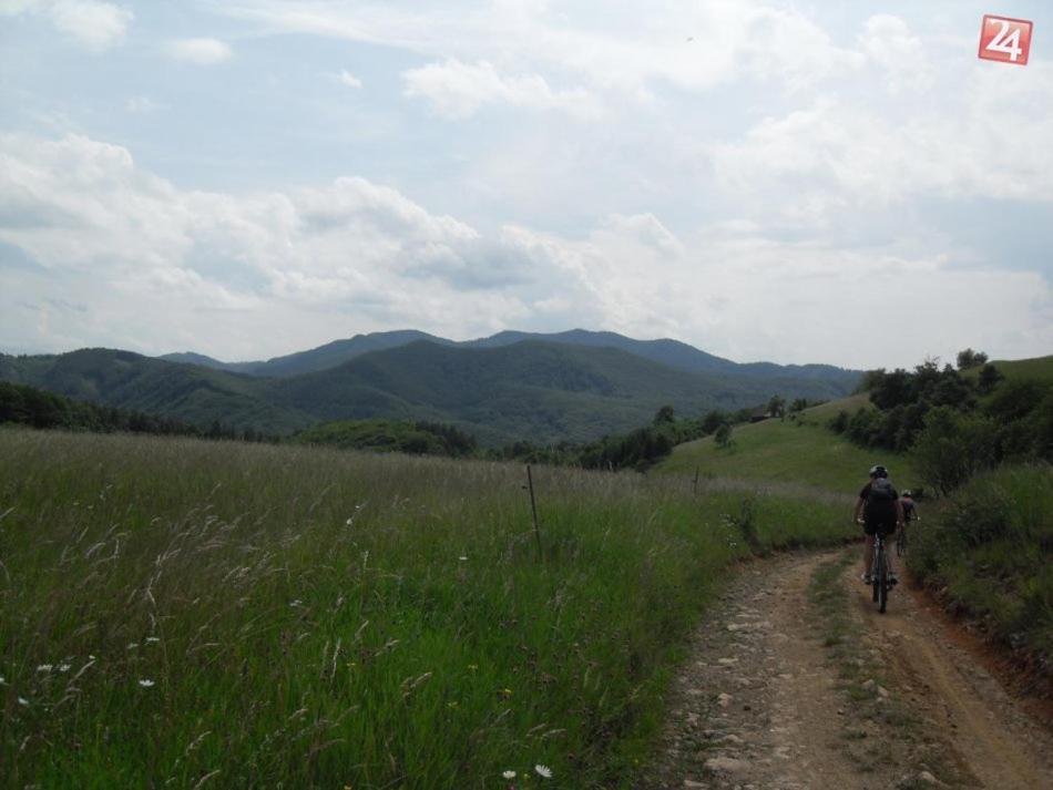
[[[1051,353],[1051,48],[1011,0],[0,0],[0,350]]]

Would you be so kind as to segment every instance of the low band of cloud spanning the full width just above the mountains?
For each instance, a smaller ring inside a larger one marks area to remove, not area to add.
[[[734,359],[858,367],[1053,343],[1053,295],[1036,273],[776,240],[745,222],[677,235],[646,213],[579,238],[484,235],[364,178],[183,191],[82,136],[0,136],[0,243],[30,261],[0,260],[0,337],[27,348],[258,358],[405,326],[471,337],[584,325]],[[890,296],[902,283],[939,295],[939,309]]]

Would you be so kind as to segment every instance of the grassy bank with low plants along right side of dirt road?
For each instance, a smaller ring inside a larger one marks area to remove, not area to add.
[[[1053,674],[1053,466],[973,478],[914,525],[907,562],[960,612]]]

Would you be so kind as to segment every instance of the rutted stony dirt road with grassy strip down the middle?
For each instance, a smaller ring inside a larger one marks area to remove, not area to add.
[[[743,570],[696,635],[640,787],[1053,788],[1051,732],[906,585],[879,615],[844,557]]]

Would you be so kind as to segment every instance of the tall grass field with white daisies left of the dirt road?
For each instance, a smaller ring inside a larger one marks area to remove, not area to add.
[[[540,551],[520,465],[0,430],[0,786],[628,787],[729,565],[855,536],[533,476]]]

